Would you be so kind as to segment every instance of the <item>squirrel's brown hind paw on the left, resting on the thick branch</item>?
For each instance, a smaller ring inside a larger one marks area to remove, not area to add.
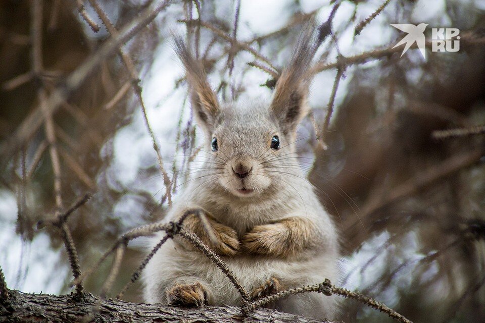
[[[167,302],[170,305],[184,307],[203,307],[207,304],[207,290],[201,283],[175,284],[167,291]]]

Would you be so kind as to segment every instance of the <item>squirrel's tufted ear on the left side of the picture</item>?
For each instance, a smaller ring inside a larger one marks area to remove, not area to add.
[[[180,36],[175,36],[175,50],[185,67],[185,75],[191,95],[192,111],[199,125],[208,133],[215,126],[220,108],[202,63],[193,58],[190,49]]]

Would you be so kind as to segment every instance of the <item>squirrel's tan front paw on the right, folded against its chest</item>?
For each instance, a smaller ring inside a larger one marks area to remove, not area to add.
[[[241,247],[247,253],[272,256],[286,255],[287,229],[281,223],[254,227],[241,238]]]

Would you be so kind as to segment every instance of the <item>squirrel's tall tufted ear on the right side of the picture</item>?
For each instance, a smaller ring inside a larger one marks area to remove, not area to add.
[[[314,23],[303,25],[291,61],[276,81],[270,111],[278,120],[284,134],[295,132],[309,110],[307,97],[310,75],[308,75],[308,70],[321,43],[314,36],[315,29]]]

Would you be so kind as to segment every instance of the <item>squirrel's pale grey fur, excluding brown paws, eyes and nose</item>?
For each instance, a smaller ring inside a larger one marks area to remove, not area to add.
[[[177,52],[195,97],[192,109],[199,115],[199,125],[206,133],[207,160],[194,175],[195,179],[180,192],[167,221],[179,217],[186,208],[203,208],[216,221],[234,229],[239,237],[254,226],[289,217],[308,219],[315,228],[316,247],[292,257],[244,254],[223,257],[248,291],[272,276],[286,287],[339,278],[338,232],[314,188],[296,165],[296,126],[307,113],[305,73],[316,50],[311,41],[310,32],[303,33],[292,62],[277,82],[271,102],[219,104],[211,98],[215,95],[200,63],[191,57],[183,42],[177,40]],[[201,114],[207,118],[200,118]],[[281,141],[278,150],[270,148],[274,135]],[[218,140],[216,152],[210,152],[213,137]],[[238,164],[252,168],[243,180],[232,170]],[[252,192],[238,192],[243,186]],[[157,237],[154,244],[159,239]],[[174,283],[195,281],[209,291],[209,304],[241,304],[238,292],[224,274],[205,255],[183,248],[177,240],[167,241],[149,262],[143,273],[144,298],[150,303],[167,303],[166,290]],[[275,306],[282,311],[315,318],[333,318],[337,310],[334,296],[317,293],[289,296]]]

